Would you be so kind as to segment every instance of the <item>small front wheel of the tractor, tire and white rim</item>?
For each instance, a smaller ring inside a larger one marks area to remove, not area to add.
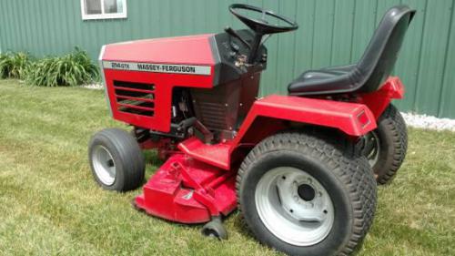
[[[136,139],[118,128],[106,128],[90,140],[88,159],[96,182],[107,190],[127,191],[142,185],[146,164]]]

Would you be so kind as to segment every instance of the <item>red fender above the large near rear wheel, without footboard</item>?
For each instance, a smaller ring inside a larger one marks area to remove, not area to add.
[[[260,130],[277,130],[270,118],[327,128],[338,128],[349,136],[359,137],[376,128],[375,115],[359,103],[339,102],[308,97],[272,95],[258,99],[232,142],[231,149],[259,137]]]

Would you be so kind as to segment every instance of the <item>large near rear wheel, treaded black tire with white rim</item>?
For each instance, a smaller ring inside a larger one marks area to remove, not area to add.
[[[261,141],[237,177],[238,209],[258,241],[289,255],[347,255],[367,234],[377,185],[342,137],[280,133]]]

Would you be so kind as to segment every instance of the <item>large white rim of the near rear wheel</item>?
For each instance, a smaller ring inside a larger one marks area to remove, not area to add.
[[[281,241],[311,246],[332,229],[335,214],[329,193],[302,169],[270,169],[258,181],[255,200],[260,220]]]

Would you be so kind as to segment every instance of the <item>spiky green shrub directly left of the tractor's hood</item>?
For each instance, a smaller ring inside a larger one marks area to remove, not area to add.
[[[97,81],[98,67],[85,51],[76,48],[66,56],[45,57],[30,67],[26,83],[38,87],[75,87]]]

